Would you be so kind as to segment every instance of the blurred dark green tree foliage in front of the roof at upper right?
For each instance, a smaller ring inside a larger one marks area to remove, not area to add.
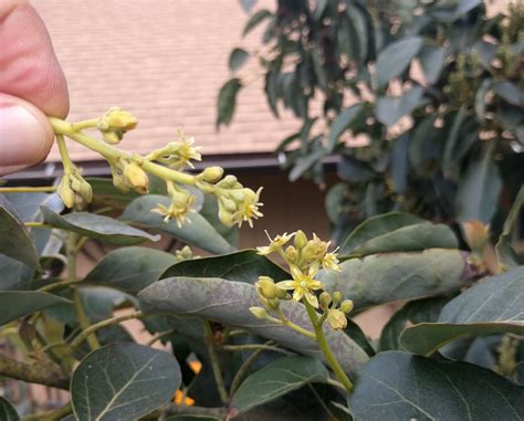
[[[439,222],[476,219],[499,235],[524,181],[524,2],[490,15],[480,0],[242,0],[243,35],[231,52],[217,125],[229,125],[256,60],[275,115],[301,128],[277,152],[291,180],[324,182],[334,238],[390,210]],[[500,9],[500,8],[499,8]]]

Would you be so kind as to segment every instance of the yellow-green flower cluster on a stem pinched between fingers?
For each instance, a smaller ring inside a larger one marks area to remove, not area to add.
[[[195,211],[192,208],[196,198],[182,187],[184,185],[193,186],[203,193],[216,196],[219,219],[228,227],[241,227],[243,222],[252,227],[253,220],[262,217],[260,212],[262,189],[253,191],[243,187],[233,176],[223,177],[223,169],[220,167],[205,168],[195,176],[181,172],[185,168],[195,169],[192,161],[201,160],[200,148],[193,146],[195,139],[186,136],[181,129],[177,130],[178,140],[143,157],[111,146],[118,144],[124,135],[138,124],[130,113],[118,107],[109,108],[101,118],[76,124],[67,124],[55,118],[50,120],[57,141],[60,137],[59,148],[65,169],[57,192],[69,208],[73,204],[77,208],[85,207],[91,202],[93,193],[91,186],[71,162],[63,141],[64,136],[99,152],[109,164],[114,186],[124,192],[135,190],[138,193],[147,193],[149,191],[148,173],[164,179],[171,200],[170,204],[159,203],[153,211],[160,213],[165,222],[174,219],[180,228],[184,223],[191,222],[188,215]],[[86,128],[96,128],[102,133],[104,141],[87,136],[83,133]]]

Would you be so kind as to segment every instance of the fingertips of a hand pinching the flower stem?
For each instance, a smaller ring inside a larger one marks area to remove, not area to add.
[[[39,164],[64,118],[67,84],[42,19],[27,0],[0,0],[0,176]]]

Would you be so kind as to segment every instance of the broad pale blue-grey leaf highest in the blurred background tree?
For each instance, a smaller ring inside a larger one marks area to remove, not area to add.
[[[408,69],[422,44],[423,40],[420,36],[411,36],[386,46],[377,57],[377,86],[382,87]]]

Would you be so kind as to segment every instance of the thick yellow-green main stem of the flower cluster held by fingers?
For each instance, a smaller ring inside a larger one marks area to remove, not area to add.
[[[82,131],[76,131],[67,122],[64,122],[60,118],[49,117],[51,125],[53,126],[56,138],[59,135],[67,136],[69,138],[77,141],[78,144],[85,146],[86,148],[94,150],[105,157],[108,161],[116,161],[122,158],[132,159],[135,155],[125,152],[118,148],[115,148],[104,141],[101,141],[94,137],[91,137]],[[157,177],[160,177],[165,180],[171,180],[182,185],[195,186],[196,179],[189,173],[177,171],[158,164],[150,162],[148,160],[143,160],[142,168]]]

